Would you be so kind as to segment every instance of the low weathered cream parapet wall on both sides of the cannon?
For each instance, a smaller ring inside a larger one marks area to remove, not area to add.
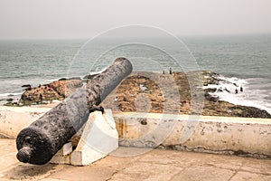
[[[50,108],[0,107],[0,135],[16,138]],[[271,157],[271,119],[113,112],[119,145]]]

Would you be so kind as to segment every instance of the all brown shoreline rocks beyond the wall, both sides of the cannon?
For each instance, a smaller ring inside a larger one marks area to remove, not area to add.
[[[117,90],[111,92],[102,102],[102,106],[113,111],[125,112],[271,118],[266,110],[231,104],[212,96],[211,93],[216,89],[204,89],[204,86],[218,84],[221,80],[217,75],[211,71],[172,74],[136,72],[122,81]],[[10,101],[6,106],[29,106],[64,100],[83,86],[84,81],[91,81],[92,77],[85,76],[87,80],[61,79],[25,90],[19,102]]]

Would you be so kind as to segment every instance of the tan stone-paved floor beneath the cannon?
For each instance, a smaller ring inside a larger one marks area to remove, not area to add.
[[[34,166],[16,159],[14,139],[0,138],[0,180],[271,180],[271,160],[162,149],[118,148],[86,167]]]

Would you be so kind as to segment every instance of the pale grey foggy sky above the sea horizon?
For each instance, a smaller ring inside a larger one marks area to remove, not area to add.
[[[89,38],[127,24],[175,35],[271,33],[270,0],[0,0],[0,39]]]

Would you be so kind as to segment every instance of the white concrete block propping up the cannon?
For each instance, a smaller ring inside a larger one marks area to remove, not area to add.
[[[70,163],[85,166],[106,157],[118,148],[118,135],[112,111],[102,114],[95,111],[89,115],[77,148],[71,153]]]

